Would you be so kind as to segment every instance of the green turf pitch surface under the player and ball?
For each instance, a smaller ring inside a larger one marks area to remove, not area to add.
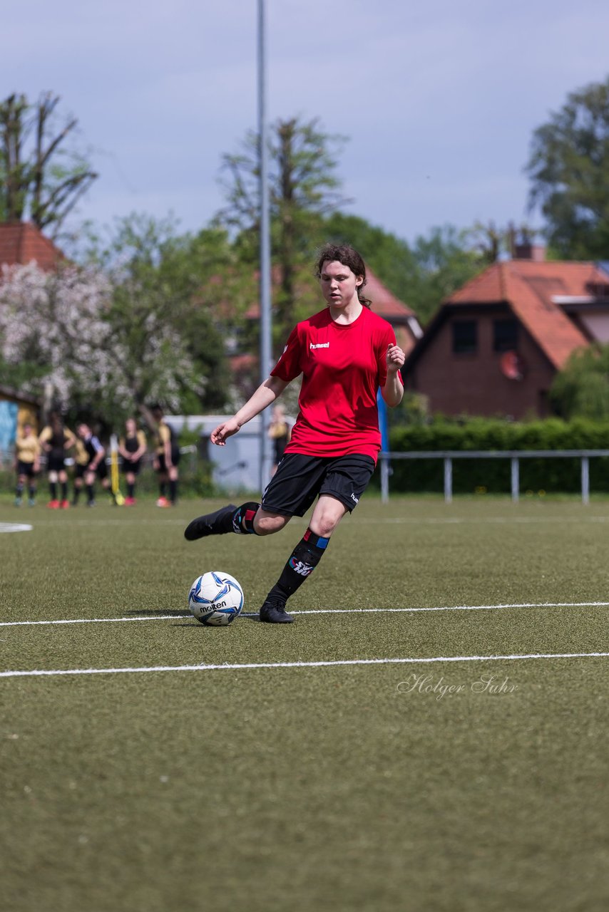
[[[295,624],[206,628],[305,529],[218,505],[0,505],[0,671],[84,672],[0,677],[5,912],[609,907],[609,503],[364,498]]]

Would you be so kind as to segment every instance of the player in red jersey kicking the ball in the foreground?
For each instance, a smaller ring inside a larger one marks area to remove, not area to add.
[[[260,608],[260,620],[270,624],[293,621],[286,612],[289,596],[320,562],[331,534],[370,481],[381,449],[377,389],[391,407],[404,393],[404,352],[392,326],[373,314],[362,294],[366,269],[360,254],[326,244],[317,275],[328,306],[292,330],[270,377],[211,434],[212,443],[224,446],[302,374],[299,416],[262,504],[229,504],[199,516],[184,531],[189,541],[228,532],[269,535],[292,516],[303,516],[318,498],[309,528]]]

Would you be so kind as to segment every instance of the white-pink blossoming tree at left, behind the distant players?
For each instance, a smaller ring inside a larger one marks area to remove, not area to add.
[[[205,377],[161,304],[129,276],[116,285],[99,267],[49,274],[36,264],[5,266],[0,372],[24,391],[48,398],[50,390],[70,410],[108,422],[151,399],[179,410],[185,390],[205,394]]]

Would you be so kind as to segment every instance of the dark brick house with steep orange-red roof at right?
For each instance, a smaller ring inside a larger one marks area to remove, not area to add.
[[[540,251],[489,266],[426,326],[403,374],[431,411],[543,417],[572,352],[609,342],[609,273],[594,263],[546,262]]]

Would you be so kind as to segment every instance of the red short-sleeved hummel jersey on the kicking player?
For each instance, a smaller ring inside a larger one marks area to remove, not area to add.
[[[302,373],[299,417],[286,453],[362,453],[376,461],[381,449],[376,392],[387,378],[390,344],[395,345],[393,327],[367,307],[348,326],[335,323],[326,308],[292,329],[271,370],[271,377],[288,382]]]

